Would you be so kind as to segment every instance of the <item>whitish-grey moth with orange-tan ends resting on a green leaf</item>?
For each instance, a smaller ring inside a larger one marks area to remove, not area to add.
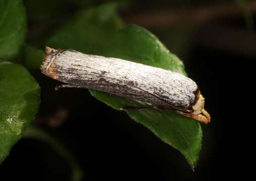
[[[176,111],[188,118],[209,123],[204,98],[190,78],[170,70],[119,58],[83,54],[75,50],[46,47],[40,67],[43,74],[67,83],[62,87],[91,88],[120,97],[149,103],[149,106],[125,106],[125,109]]]

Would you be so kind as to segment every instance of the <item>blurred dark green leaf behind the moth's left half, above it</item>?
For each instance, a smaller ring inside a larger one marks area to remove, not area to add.
[[[77,13],[46,45],[91,54],[104,51],[117,28],[123,27],[116,8],[117,4],[108,4]]]

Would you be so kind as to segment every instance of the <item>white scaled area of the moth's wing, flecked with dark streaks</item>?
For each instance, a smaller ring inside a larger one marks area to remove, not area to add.
[[[193,80],[180,73],[157,67],[76,51],[60,54],[56,65],[63,67],[63,70],[75,70],[75,74],[60,72],[60,76],[66,76],[67,79],[79,75],[84,80],[97,81],[104,77],[106,81],[117,86],[131,81],[135,85],[132,88],[161,95],[163,100],[174,106],[189,107],[196,99],[194,93],[197,85]]]

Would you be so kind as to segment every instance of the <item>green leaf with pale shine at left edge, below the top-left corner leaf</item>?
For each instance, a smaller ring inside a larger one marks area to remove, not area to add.
[[[0,164],[39,107],[39,85],[19,64],[0,63]]]

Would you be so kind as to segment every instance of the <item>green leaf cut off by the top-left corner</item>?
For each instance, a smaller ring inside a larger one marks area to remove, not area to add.
[[[0,59],[15,56],[25,39],[26,15],[21,0],[0,0]]]

